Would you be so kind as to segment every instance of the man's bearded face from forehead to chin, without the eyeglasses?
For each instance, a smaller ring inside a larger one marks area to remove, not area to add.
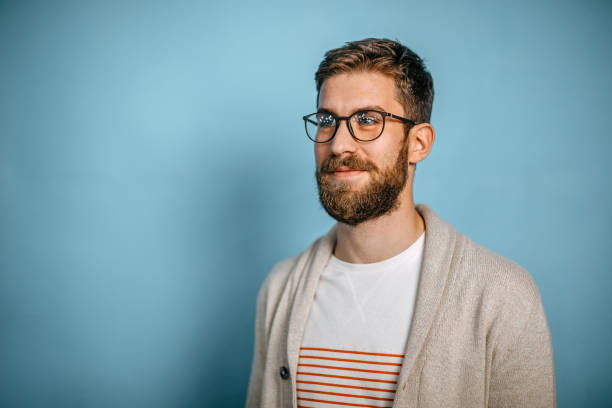
[[[375,109],[404,116],[392,78],[377,72],[353,72],[328,78],[319,94],[319,110],[349,116]],[[387,118],[376,140],[355,140],[346,121],[335,137],[315,144],[319,199],[336,220],[357,225],[398,207],[408,180],[408,141],[404,125]]]

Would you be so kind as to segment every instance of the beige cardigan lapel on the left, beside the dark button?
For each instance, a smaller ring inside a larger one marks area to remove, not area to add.
[[[297,272],[298,282],[295,288],[294,301],[289,314],[289,328],[287,333],[287,362],[291,372],[293,389],[296,389],[297,364],[304,337],[304,330],[310,314],[313,299],[319,286],[319,278],[329,262],[329,258],[336,245],[336,231],[334,225],[329,232],[313,244],[305,254],[304,260],[299,260],[294,273]],[[293,393],[293,406],[297,406],[297,396]]]

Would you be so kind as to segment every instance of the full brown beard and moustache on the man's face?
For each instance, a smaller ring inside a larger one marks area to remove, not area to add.
[[[351,191],[347,181],[331,181],[331,174],[340,166],[368,171],[369,183],[360,190]],[[315,176],[319,189],[319,201],[327,213],[339,222],[355,226],[371,220],[399,206],[399,194],[408,181],[408,140],[392,167],[380,170],[374,163],[348,156],[340,159],[330,156],[321,163]]]

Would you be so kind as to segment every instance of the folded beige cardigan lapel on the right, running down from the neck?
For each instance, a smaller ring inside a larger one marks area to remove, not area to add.
[[[455,228],[426,204],[417,204],[425,221],[425,247],[414,315],[398,378],[394,407],[416,406],[418,375],[414,368],[436,317],[455,248]]]

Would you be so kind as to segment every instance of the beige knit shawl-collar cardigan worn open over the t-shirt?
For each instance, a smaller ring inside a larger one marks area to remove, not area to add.
[[[416,208],[425,248],[393,406],[556,406],[550,331],[531,276],[429,206]],[[297,407],[304,326],[335,241],[334,227],[263,283],[247,407]]]

